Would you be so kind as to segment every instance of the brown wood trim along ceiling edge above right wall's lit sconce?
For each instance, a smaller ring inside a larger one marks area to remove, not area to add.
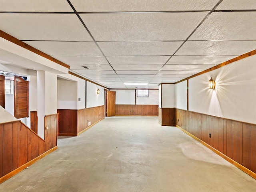
[[[204,73],[208,73],[208,72],[210,72],[210,71],[213,71],[213,70],[215,70],[215,69],[218,69],[218,68],[220,68],[220,67],[223,67],[223,66],[225,66],[225,65],[228,65],[228,64],[233,63],[233,62],[235,62],[235,61],[244,59],[244,58],[246,58],[246,57],[250,57],[250,56],[252,56],[252,55],[256,55],[256,49],[253,50],[253,51],[250,51],[250,52],[248,52],[248,53],[244,53],[243,55],[240,55],[240,56],[235,57],[235,58],[233,58],[233,59],[230,59],[230,60],[228,60],[228,61],[225,61],[225,62],[223,62],[223,63],[220,63],[219,65],[216,65],[216,66],[214,66],[214,67],[211,67],[210,69],[206,69],[206,70],[204,70],[204,71],[202,71],[202,72],[200,72],[200,73],[196,73],[195,75],[192,75],[192,76],[190,76],[190,77],[187,77],[187,78],[185,78],[185,79],[182,79],[182,80],[180,80],[180,81],[177,81],[177,82],[174,83],[174,84],[180,83],[180,82],[182,82],[182,81],[186,81],[186,80],[188,80],[188,79],[191,79],[191,78],[196,77],[196,76],[198,76],[198,75],[202,75],[202,74],[204,74]]]

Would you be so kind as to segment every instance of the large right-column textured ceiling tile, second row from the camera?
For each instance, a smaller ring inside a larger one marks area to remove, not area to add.
[[[189,40],[256,40],[254,18],[256,12],[214,12]]]

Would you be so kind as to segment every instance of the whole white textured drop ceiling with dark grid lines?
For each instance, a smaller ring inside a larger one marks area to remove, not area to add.
[[[256,49],[255,0],[0,0],[0,5],[0,30],[112,89],[158,88]]]

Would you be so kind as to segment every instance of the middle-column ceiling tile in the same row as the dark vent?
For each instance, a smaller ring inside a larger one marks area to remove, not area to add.
[[[152,70],[158,71],[163,65],[113,65],[115,71],[140,71]]]

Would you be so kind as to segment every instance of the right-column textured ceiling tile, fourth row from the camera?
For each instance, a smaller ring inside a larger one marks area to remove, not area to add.
[[[166,64],[220,64],[238,55],[185,55],[173,56]]]

